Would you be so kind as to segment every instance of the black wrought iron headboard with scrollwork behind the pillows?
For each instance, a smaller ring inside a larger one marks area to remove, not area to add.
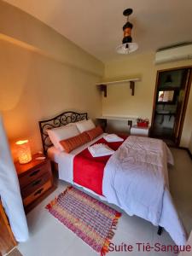
[[[39,121],[38,125],[41,132],[41,139],[42,139],[44,154],[47,154],[48,148],[53,145],[49,140],[49,136],[47,133],[48,129],[60,127],[62,125],[67,125],[69,123],[75,123],[83,119],[87,119],[87,113],[77,113],[73,111],[67,111],[55,116],[52,119]]]

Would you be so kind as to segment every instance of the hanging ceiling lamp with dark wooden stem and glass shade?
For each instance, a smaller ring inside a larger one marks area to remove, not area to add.
[[[137,50],[138,44],[132,43],[132,38],[131,38],[131,30],[133,28],[132,23],[129,21],[129,15],[131,15],[132,9],[125,9],[123,12],[123,15],[127,17],[126,23],[123,26],[123,31],[124,31],[124,38],[122,40],[122,44],[120,44],[117,47],[117,52],[119,54],[129,54],[132,51]]]

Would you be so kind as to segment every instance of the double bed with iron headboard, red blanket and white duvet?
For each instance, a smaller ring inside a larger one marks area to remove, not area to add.
[[[53,147],[48,129],[83,119],[88,119],[87,113],[65,112],[39,122],[44,154],[58,165],[59,178],[83,187],[131,216],[165,228],[177,245],[183,245],[186,233],[169,192],[167,163],[173,164],[173,160],[166,144],[151,138],[124,137],[123,143],[110,143],[115,150],[111,157],[97,159],[87,148],[104,143],[104,133],[70,153]]]

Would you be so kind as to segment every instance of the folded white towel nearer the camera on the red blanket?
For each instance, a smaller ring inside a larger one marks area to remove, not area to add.
[[[112,148],[109,148],[108,145],[102,143],[97,143],[93,146],[88,147],[88,149],[93,157],[110,155],[114,153],[114,150]]]

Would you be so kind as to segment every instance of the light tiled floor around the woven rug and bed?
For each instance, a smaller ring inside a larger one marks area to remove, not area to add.
[[[170,170],[170,187],[177,210],[183,219],[186,229],[192,229],[192,161],[186,151],[172,148],[175,166]],[[68,230],[47,210],[47,203],[59,195],[67,187],[67,183],[60,182],[58,188],[47,197],[38,207],[27,215],[30,230],[30,239],[20,243],[18,249],[23,256],[94,256],[94,252],[72,231]],[[174,245],[170,236],[164,230],[161,236],[157,235],[157,228],[142,218],[130,217],[123,213],[119,219],[118,229],[115,231],[113,242],[120,245],[122,242],[134,246],[132,253],[108,253],[108,255],[176,255],[175,253],[138,253],[137,242],[160,242]]]

